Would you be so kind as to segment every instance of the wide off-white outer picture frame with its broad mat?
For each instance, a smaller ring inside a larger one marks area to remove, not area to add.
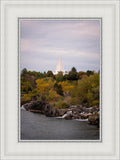
[[[113,159],[119,153],[119,1],[1,1],[1,159]],[[102,18],[102,141],[18,141],[18,18]]]

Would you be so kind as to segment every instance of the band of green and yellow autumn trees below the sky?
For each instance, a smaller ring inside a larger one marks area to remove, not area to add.
[[[99,105],[99,72],[79,71],[75,67],[68,74],[54,75],[52,71],[21,71],[21,104],[44,100],[54,107],[70,105]]]

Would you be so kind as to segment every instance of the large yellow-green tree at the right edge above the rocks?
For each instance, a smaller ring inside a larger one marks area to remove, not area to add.
[[[99,104],[99,74],[86,75],[71,91],[72,102],[77,104],[86,103],[88,106]]]

